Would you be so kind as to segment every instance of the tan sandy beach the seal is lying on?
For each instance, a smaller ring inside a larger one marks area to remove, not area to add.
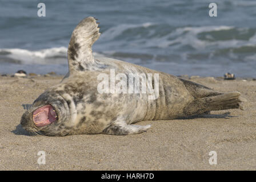
[[[137,135],[31,135],[19,124],[27,104],[62,76],[0,76],[0,170],[236,170],[256,169],[256,81],[193,77],[222,92],[239,91],[245,110],[211,111],[186,119],[143,121]],[[45,151],[46,164],[37,155]],[[209,152],[217,164],[209,164]]]

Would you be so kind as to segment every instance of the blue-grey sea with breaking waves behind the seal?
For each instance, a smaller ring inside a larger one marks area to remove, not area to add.
[[[0,73],[65,74],[71,33],[86,16],[100,22],[96,55],[173,75],[256,77],[255,0],[0,0]]]

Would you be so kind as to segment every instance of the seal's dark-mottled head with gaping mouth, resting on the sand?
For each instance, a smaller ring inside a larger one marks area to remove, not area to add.
[[[56,92],[46,91],[34,101],[30,110],[21,118],[22,127],[29,131],[49,136],[68,135],[69,106]]]

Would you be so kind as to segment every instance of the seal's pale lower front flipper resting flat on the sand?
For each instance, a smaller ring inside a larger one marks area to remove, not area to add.
[[[110,135],[130,135],[147,131],[151,126],[127,125],[125,122],[114,122],[103,133]]]

